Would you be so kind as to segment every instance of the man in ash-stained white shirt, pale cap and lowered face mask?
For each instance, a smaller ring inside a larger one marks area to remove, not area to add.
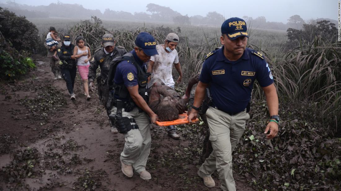
[[[179,78],[177,83],[181,82],[182,72],[179,63],[178,51],[175,49],[178,45],[179,37],[175,33],[169,33],[166,37],[164,44],[159,44],[156,46],[158,55],[154,55],[150,58],[148,65],[148,72],[152,75],[152,78],[159,78],[161,81],[174,89],[174,80],[172,76],[172,66],[174,64],[175,69],[179,73]],[[150,78],[149,78],[150,80]],[[175,126],[167,127],[168,136],[173,139],[179,139],[180,136],[176,133]]]

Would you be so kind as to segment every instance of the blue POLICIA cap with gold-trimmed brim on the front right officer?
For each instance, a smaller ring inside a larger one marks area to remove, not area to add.
[[[229,18],[221,25],[221,34],[226,34],[231,40],[240,36],[249,37],[246,30],[246,22],[238,17]]]

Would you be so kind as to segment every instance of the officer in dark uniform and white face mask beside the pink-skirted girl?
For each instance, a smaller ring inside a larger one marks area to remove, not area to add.
[[[63,79],[66,82],[66,87],[68,88],[71,100],[75,100],[76,96],[73,92],[73,87],[75,84],[76,77],[76,59],[77,56],[73,55],[73,49],[75,45],[71,44],[70,35],[64,35],[63,44],[57,50],[59,61],[59,69]]]

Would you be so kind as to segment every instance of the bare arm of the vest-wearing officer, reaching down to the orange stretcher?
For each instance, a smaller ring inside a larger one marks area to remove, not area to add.
[[[145,111],[149,117],[152,123],[155,123],[158,119],[158,115],[156,115],[148,106],[146,101],[142,98],[140,94],[138,94],[138,85],[135,85],[133,87],[127,87],[130,97],[134,100],[136,105],[141,108],[143,111]]]

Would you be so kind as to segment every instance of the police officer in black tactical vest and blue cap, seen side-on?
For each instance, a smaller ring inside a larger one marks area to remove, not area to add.
[[[115,98],[109,118],[115,120],[118,131],[125,138],[120,156],[121,170],[125,176],[132,177],[134,169],[144,180],[151,179],[150,173],[146,171],[151,146],[148,115],[153,123],[158,118],[146,102],[146,62],[151,56],[158,54],[155,46],[152,35],[139,33],[134,50],[113,60],[108,78],[109,89],[113,87]],[[114,66],[116,69],[112,70]],[[112,74],[115,76],[112,77]]]

